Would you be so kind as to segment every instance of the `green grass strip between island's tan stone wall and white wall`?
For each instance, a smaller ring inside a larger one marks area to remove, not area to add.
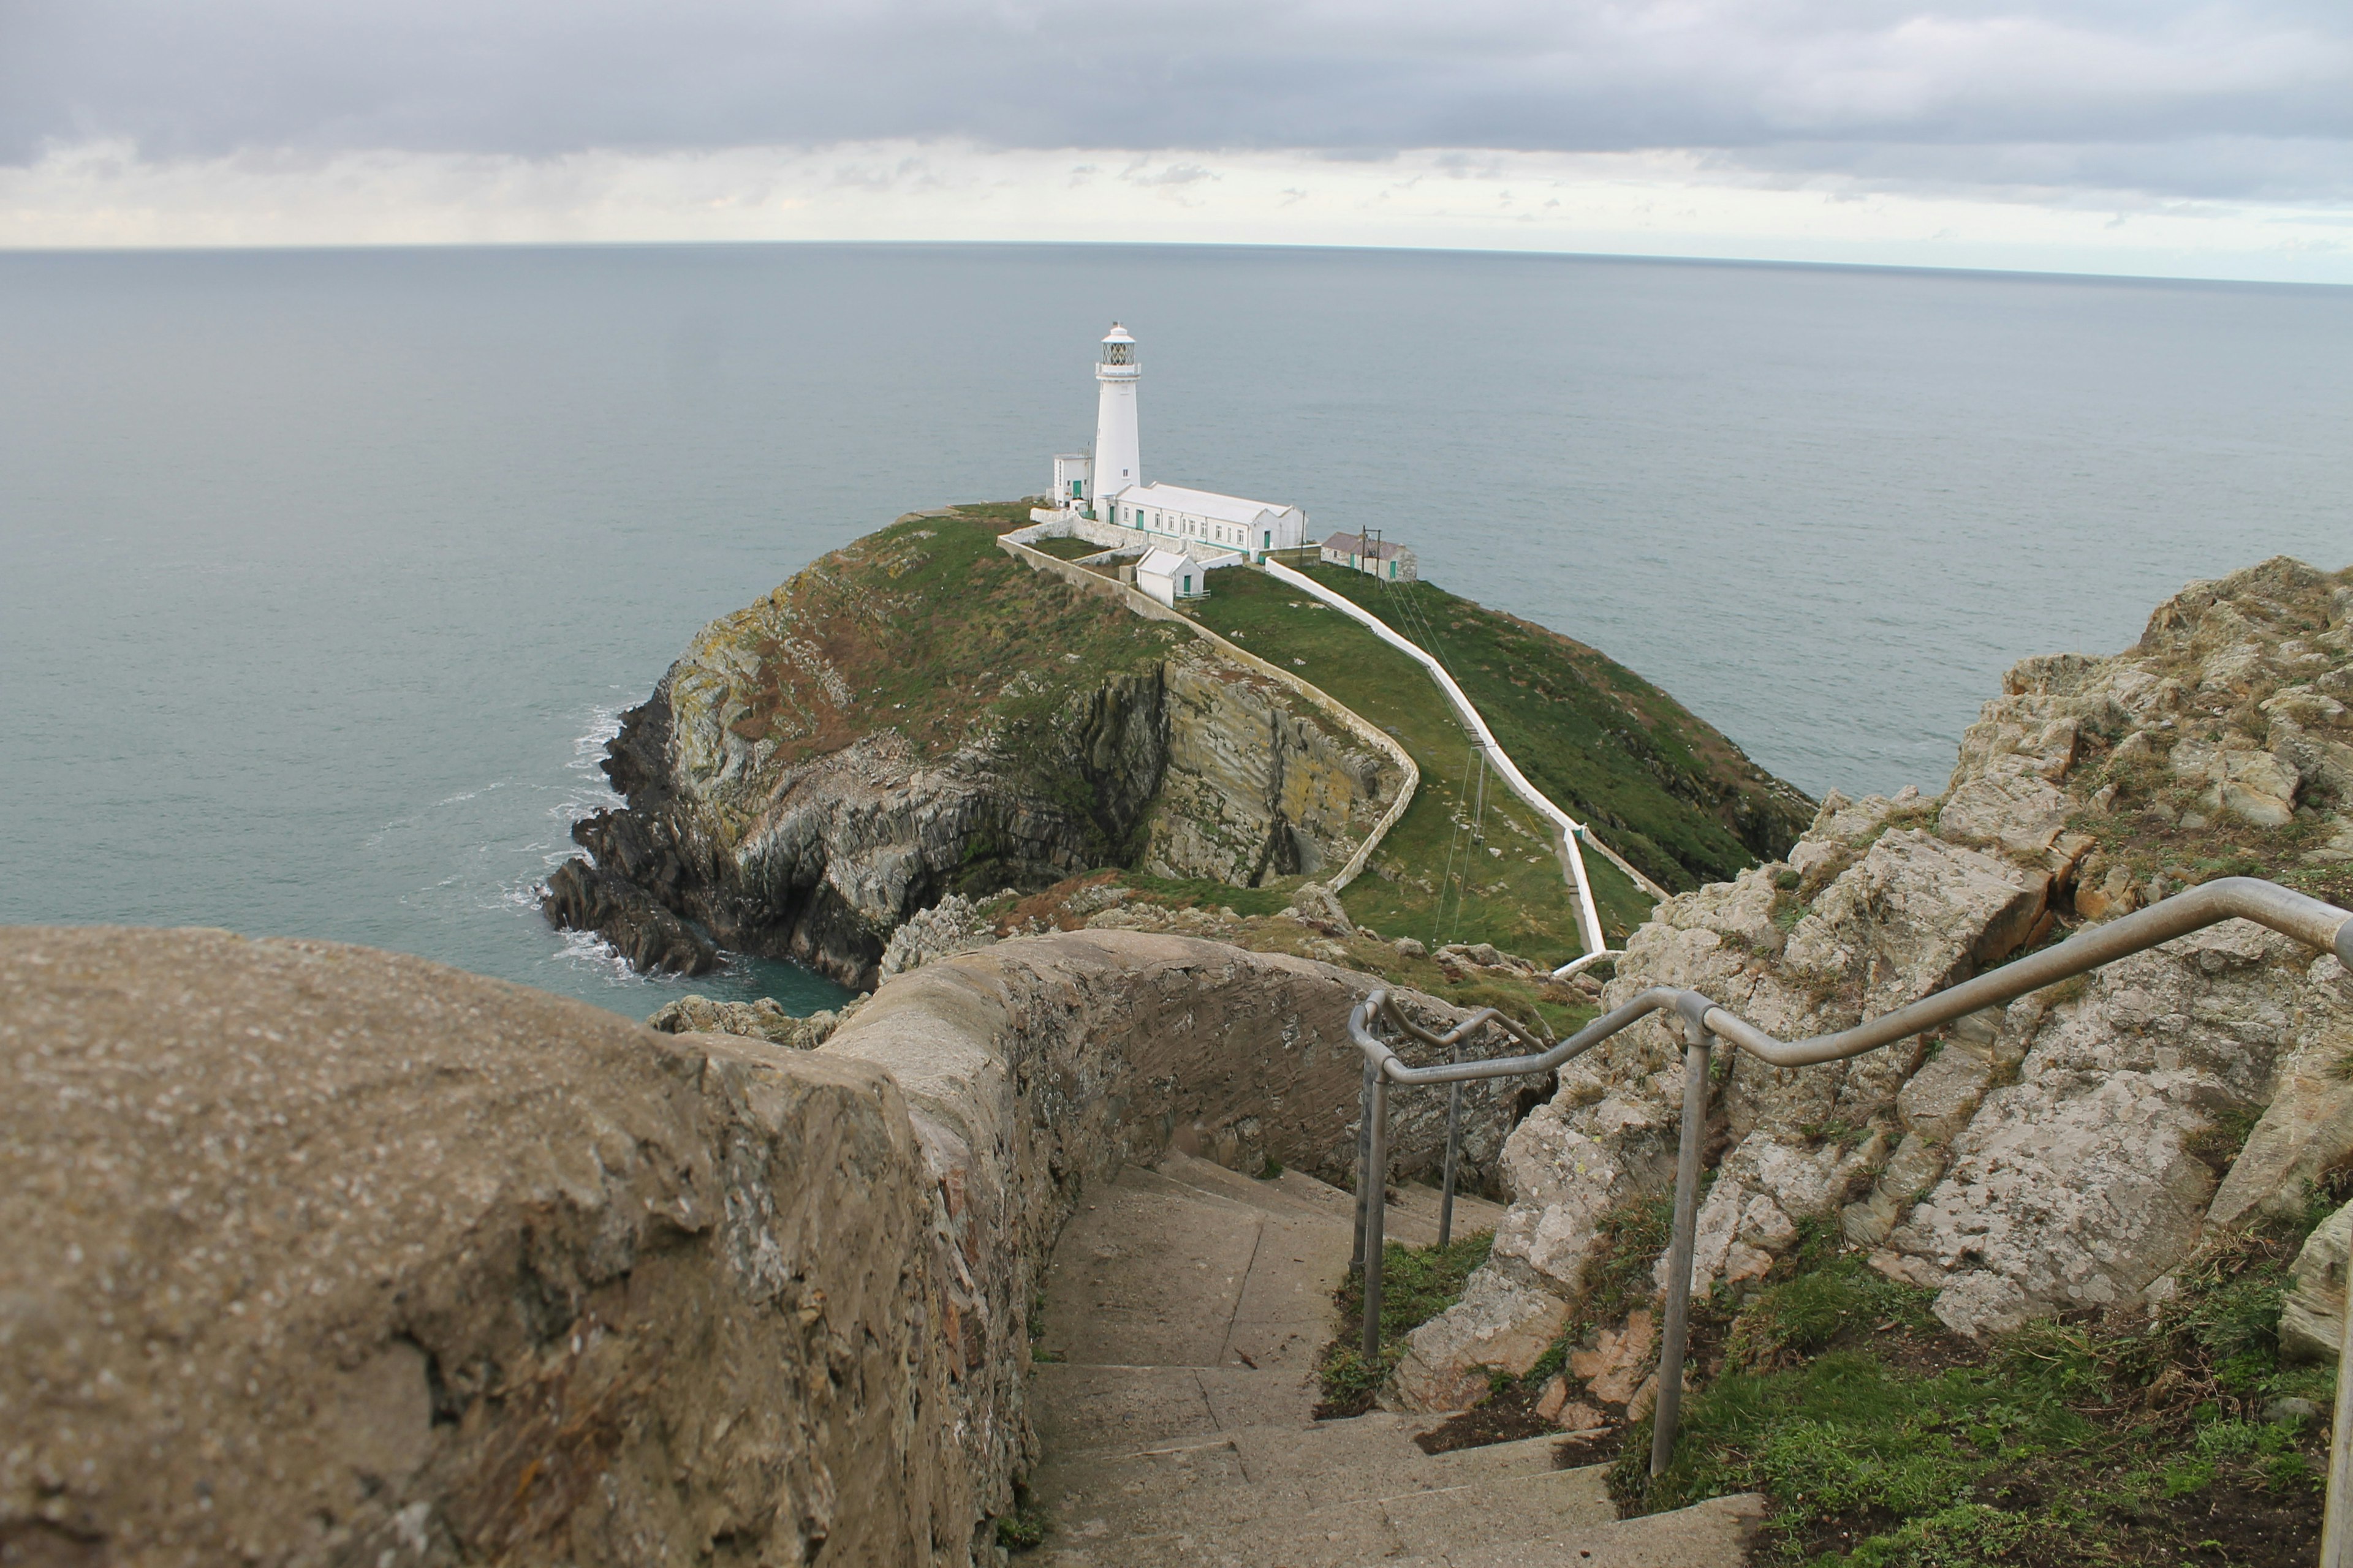
[[[1445,693],[1412,658],[1391,649],[1337,609],[1257,574],[1221,574],[1219,595],[1200,623],[1268,658],[1384,726],[1421,769],[1414,804],[1372,867],[1344,893],[1351,919],[1384,936],[1440,943],[1494,943],[1539,964],[1584,952],[1577,900],[1560,872],[1548,825],[1487,778],[1485,816],[1475,811],[1471,745]],[[1466,802],[1471,792],[1471,802]],[[1485,839],[1471,839],[1482,823]],[[1499,853],[1489,853],[1499,851]],[[1473,865],[1466,896],[1447,886],[1449,856]],[[1602,929],[1624,936],[1649,917],[1649,898],[1600,856],[1586,856]]]

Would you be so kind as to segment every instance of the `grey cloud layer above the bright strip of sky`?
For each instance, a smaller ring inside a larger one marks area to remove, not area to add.
[[[969,136],[1704,148],[1760,179],[2339,200],[2344,0],[0,0],[0,158]]]

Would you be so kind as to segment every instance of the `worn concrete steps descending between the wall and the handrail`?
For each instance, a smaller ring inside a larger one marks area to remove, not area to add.
[[[1499,1208],[1459,1201],[1459,1232]],[[1047,1269],[1033,1497],[1052,1568],[1739,1568],[1753,1497],[1617,1521],[1555,1439],[1426,1455],[1433,1418],[1318,1422],[1353,1199],[1174,1154],[1094,1194]],[[1438,1237],[1400,1190],[1388,1234]]]

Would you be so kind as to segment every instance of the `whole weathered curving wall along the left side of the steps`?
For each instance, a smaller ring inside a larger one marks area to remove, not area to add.
[[[0,1549],[993,1561],[1061,1220],[1169,1147],[1346,1173],[1367,985],[1024,938],[791,1051],[360,947],[0,931]],[[1473,1098],[1473,1161],[1506,1124]]]

